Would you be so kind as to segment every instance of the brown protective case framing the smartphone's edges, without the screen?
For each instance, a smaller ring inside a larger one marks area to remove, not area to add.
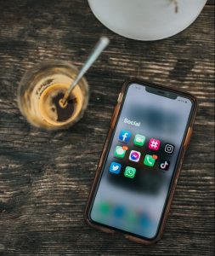
[[[187,92],[184,92],[184,91],[181,91],[181,90],[174,90],[173,88],[169,88],[169,87],[166,87],[166,86],[163,86],[163,85],[161,86],[161,85],[157,85],[157,84],[150,84],[150,83],[145,82],[144,80],[137,79],[137,78],[131,78],[131,79],[127,79],[125,81],[125,83],[122,85],[122,91],[120,92],[120,94],[118,96],[116,107],[114,109],[114,113],[113,113],[112,119],[110,121],[110,130],[108,132],[108,136],[106,138],[105,145],[104,145],[104,148],[102,150],[102,154],[100,156],[97,171],[95,173],[95,177],[94,177],[94,180],[93,180],[92,189],[91,189],[91,191],[89,193],[89,196],[88,196],[88,202],[87,202],[87,206],[86,206],[86,209],[85,209],[85,212],[84,212],[84,219],[87,222],[87,224],[89,224],[90,226],[92,226],[95,229],[102,230],[102,231],[104,231],[106,233],[110,233],[110,234],[116,233],[116,230],[111,230],[109,228],[106,228],[105,226],[102,226],[102,225],[99,225],[99,224],[94,224],[89,219],[89,212],[90,212],[90,208],[91,208],[92,201],[93,201],[93,195],[94,195],[94,193],[97,189],[97,185],[98,185],[98,182],[99,182],[99,176],[101,174],[102,166],[103,166],[104,161],[105,161],[105,156],[106,156],[107,150],[109,148],[110,139],[112,137],[112,133],[113,133],[115,125],[116,125],[116,119],[117,119],[118,113],[120,113],[120,110],[121,110],[121,107],[122,107],[122,99],[123,99],[123,96],[125,94],[125,91],[127,90],[127,85],[131,84],[131,83],[139,83],[139,84],[150,85],[150,86],[156,87],[156,88],[167,89],[167,90],[170,90],[172,92],[178,93],[182,96],[187,96],[194,102],[192,113],[190,115],[190,123],[188,123],[188,125],[187,125],[187,131],[184,134],[184,140],[182,142],[183,148],[182,148],[182,150],[181,150],[181,152],[178,156],[178,164],[177,164],[176,171],[175,171],[175,174],[174,174],[174,177],[173,177],[173,182],[172,182],[172,185],[171,185],[172,186],[171,187],[171,192],[169,193],[168,198],[167,198],[166,207],[165,207],[164,212],[163,212],[162,217],[161,217],[161,224],[160,224],[160,227],[159,227],[156,238],[154,238],[153,240],[142,239],[142,238],[139,238],[138,236],[127,235],[127,234],[124,234],[123,231],[121,232],[130,241],[139,242],[139,243],[142,243],[144,245],[151,245],[151,244],[154,244],[154,243],[156,243],[157,241],[159,241],[161,239],[161,236],[162,236],[162,233],[163,233],[166,221],[167,221],[167,215],[168,215],[168,212],[170,210],[171,203],[173,201],[173,195],[174,195],[174,191],[176,189],[179,173],[180,173],[181,166],[182,166],[182,163],[183,163],[183,160],[184,160],[184,154],[185,154],[185,151],[188,148],[188,145],[190,143],[190,137],[191,137],[191,134],[192,134],[192,131],[193,131],[195,115],[196,115],[196,112],[197,112],[196,98],[195,98],[195,96],[192,96],[190,93],[187,93]]]

